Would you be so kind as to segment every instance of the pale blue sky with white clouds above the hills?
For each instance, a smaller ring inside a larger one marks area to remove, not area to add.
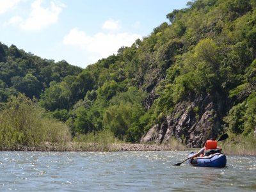
[[[0,0],[0,42],[86,68],[150,35],[189,0]]]

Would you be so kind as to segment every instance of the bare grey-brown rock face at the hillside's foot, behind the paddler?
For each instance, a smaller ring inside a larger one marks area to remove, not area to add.
[[[225,110],[223,101],[211,95],[200,95],[192,101],[176,104],[173,113],[161,124],[154,125],[141,138],[142,143],[166,143],[175,137],[187,147],[202,147],[209,138],[216,138],[221,129]]]

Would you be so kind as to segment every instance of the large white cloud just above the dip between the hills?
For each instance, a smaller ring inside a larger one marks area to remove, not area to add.
[[[90,55],[90,61],[95,62],[116,54],[122,46],[131,46],[138,38],[141,38],[141,35],[130,33],[97,33],[90,36],[74,28],[63,38],[63,44],[83,49]]]

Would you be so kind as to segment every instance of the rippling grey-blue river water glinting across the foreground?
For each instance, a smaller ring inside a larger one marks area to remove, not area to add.
[[[199,168],[188,152],[0,152],[0,191],[256,191],[256,157]]]

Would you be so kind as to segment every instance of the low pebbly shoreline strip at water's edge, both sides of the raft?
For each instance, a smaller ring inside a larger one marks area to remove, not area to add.
[[[168,144],[141,144],[141,143],[83,143],[69,142],[65,144],[44,143],[34,147],[15,145],[12,147],[0,147],[2,151],[52,151],[52,152],[99,152],[99,151],[168,151],[188,150],[197,152],[200,148],[186,148],[181,145]],[[188,152],[189,153],[189,152]],[[225,146],[223,153],[226,155],[256,156],[256,150],[230,150]]]

